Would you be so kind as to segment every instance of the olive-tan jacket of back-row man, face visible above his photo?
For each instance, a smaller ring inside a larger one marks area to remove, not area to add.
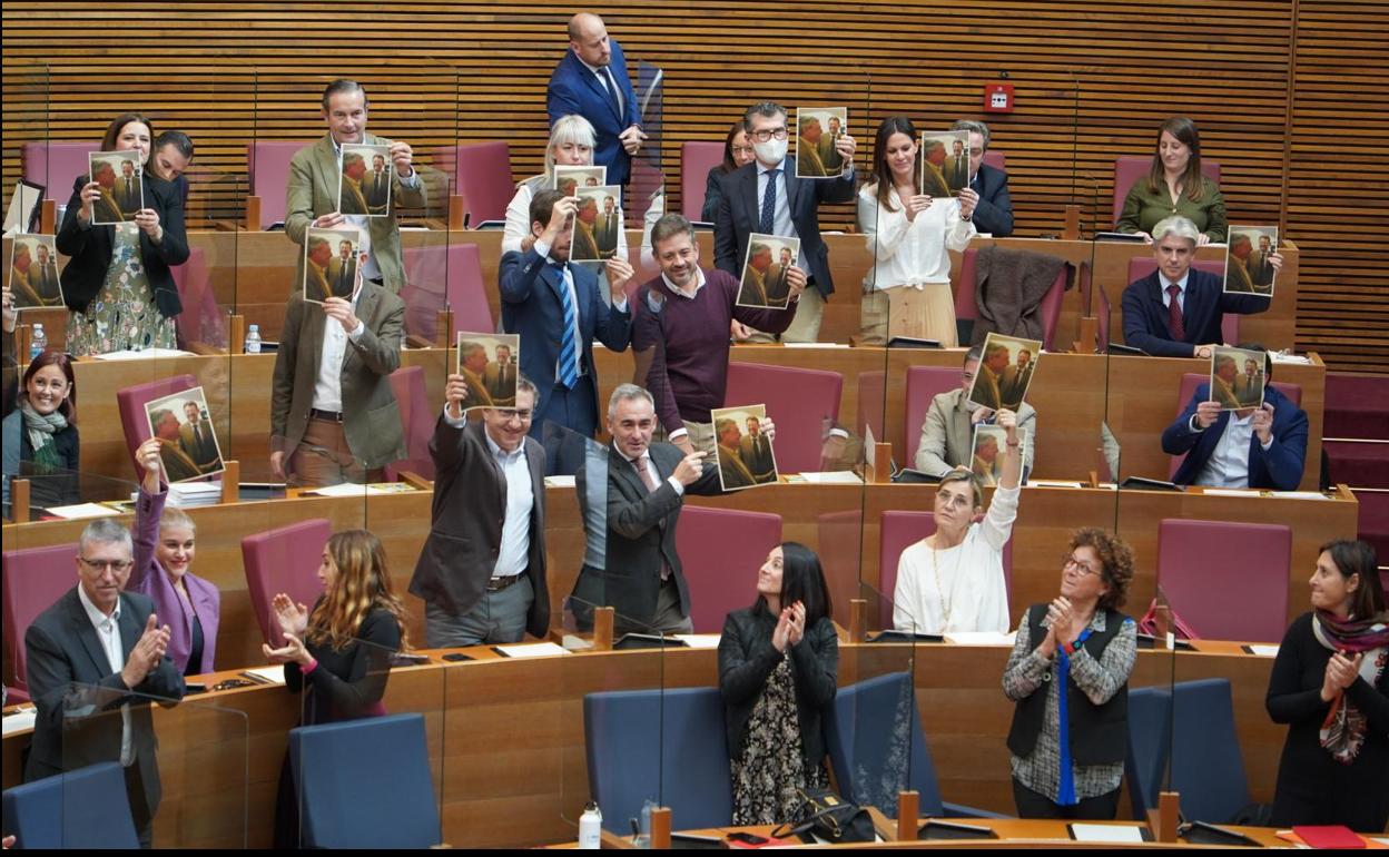
[[[364,135],[363,143],[389,146],[390,140],[375,135]],[[392,172],[394,174],[394,172]],[[413,208],[425,204],[424,176],[415,169],[414,188],[394,178],[390,197],[390,217],[374,217],[367,221],[371,235],[371,251],[381,267],[381,276],[388,289],[399,293],[406,285],[406,263],[400,254],[400,224],[396,214],[400,206]],[[304,244],[304,233],[317,217],[338,210],[338,151],[331,135],[324,135],[313,146],[294,153],[289,161],[289,186],[285,189],[285,233],[299,246]],[[299,254],[294,282],[303,282],[304,256]]]

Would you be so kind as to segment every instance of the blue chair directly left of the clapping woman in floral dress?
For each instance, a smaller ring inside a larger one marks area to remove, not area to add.
[[[589,693],[583,742],[589,793],[608,831],[631,832],[628,819],[640,817],[646,800],[669,807],[676,831],[733,822],[718,689]]]

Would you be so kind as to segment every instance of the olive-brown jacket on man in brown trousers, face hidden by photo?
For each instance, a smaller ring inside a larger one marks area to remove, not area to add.
[[[343,432],[353,457],[372,469],[406,457],[400,406],[390,389],[390,374],[400,368],[406,304],[367,282],[357,296],[356,314],[367,329],[357,342],[349,338],[343,350]],[[308,411],[314,407],[325,322],[322,307],[304,303],[299,294],[289,299],[269,403],[271,451],[283,451],[286,458],[304,439]]]

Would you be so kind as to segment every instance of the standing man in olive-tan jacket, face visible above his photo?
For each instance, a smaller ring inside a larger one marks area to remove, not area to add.
[[[285,233],[294,243],[303,244],[304,231],[308,226],[332,228],[346,224],[360,228],[363,232],[360,250],[367,260],[363,264],[363,278],[383,286],[392,294],[399,293],[406,285],[399,214],[365,217],[365,200],[360,214],[338,211],[338,163],[343,143],[386,146],[393,167],[394,199],[400,206],[422,208],[425,186],[411,165],[411,149],[407,143],[367,133],[367,90],[356,81],[339,79],[329,83],[324,90],[322,106],[328,133],[313,146],[299,150],[289,164]],[[357,171],[356,167],[353,169]],[[363,163],[361,175],[364,174]],[[296,274],[301,276],[303,271]]]

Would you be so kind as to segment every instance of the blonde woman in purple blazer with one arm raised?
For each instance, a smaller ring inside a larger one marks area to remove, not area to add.
[[[144,468],[135,501],[135,565],[125,588],[154,601],[154,613],[169,626],[168,656],[183,675],[213,672],[222,596],[192,572],[197,525],[182,508],[165,507],[160,444],[150,438],[135,450]]]

